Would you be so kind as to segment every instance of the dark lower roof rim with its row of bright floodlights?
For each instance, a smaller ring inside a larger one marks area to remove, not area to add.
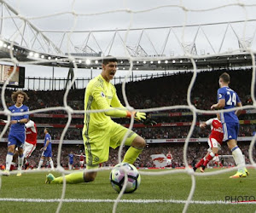
[[[4,45],[5,44],[5,45]],[[10,47],[11,43],[4,43],[0,49],[1,59],[10,59]],[[5,47],[5,48],[4,48]],[[43,65],[43,66],[61,66],[61,67],[75,67],[87,68],[87,69],[101,69],[101,60],[98,57],[89,56],[73,56],[73,60],[70,60],[67,56],[63,55],[44,55],[44,59],[37,56],[38,53],[32,53],[30,49],[20,47],[18,45],[12,46],[13,56],[20,62],[29,62],[31,64]],[[38,54],[39,55],[39,54]],[[254,55],[254,54],[253,54]],[[226,55],[204,55],[197,56],[191,55],[195,61],[197,69],[214,69],[214,68],[235,68],[242,66],[252,66],[252,55],[248,53],[236,53]],[[255,57],[255,55],[254,55]],[[103,57],[102,57],[103,58]],[[188,56],[180,57],[144,57],[144,58],[126,58],[118,57],[119,69],[129,69],[131,66],[133,70],[191,70],[193,64]]]

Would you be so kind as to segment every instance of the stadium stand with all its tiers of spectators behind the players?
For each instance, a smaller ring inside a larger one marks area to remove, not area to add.
[[[198,72],[198,76],[195,81],[195,85],[192,90],[191,101],[198,109],[209,110],[212,103],[216,101],[216,91],[218,89],[218,83],[216,79],[224,70],[217,70],[211,72]],[[250,69],[239,69],[229,70],[232,82],[230,87],[238,91],[241,97],[243,105],[251,105],[252,99],[250,96],[251,86],[251,73]],[[192,72],[177,72],[171,76],[152,78],[143,80],[140,82],[130,82],[126,84],[126,94],[130,105],[134,108],[149,108],[149,107],[166,107],[173,105],[187,105],[187,89],[192,78]],[[241,85],[240,82],[243,82]],[[120,100],[124,103],[121,93],[121,84],[116,85]],[[139,91],[139,93],[137,92]],[[200,91],[200,93],[199,93]],[[202,92],[201,92],[202,91]],[[5,97],[7,106],[11,106],[13,103],[10,100],[12,89],[6,89]],[[31,110],[40,109],[45,107],[61,107],[63,106],[62,97],[64,90],[53,90],[53,91],[34,91],[27,90],[26,93],[29,95],[30,100],[27,104]],[[74,110],[84,110],[84,89],[72,89],[69,92],[67,103]],[[2,102],[0,104],[2,107]],[[145,126],[143,124],[136,123],[133,130],[139,135],[142,135],[145,139],[179,139],[185,138],[189,133],[190,123],[192,121],[192,114],[188,110],[172,110],[162,112],[150,112],[149,116],[154,118],[157,124],[153,126]],[[201,121],[205,121],[208,118],[212,118],[214,115],[199,114],[195,130],[192,138],[207,138],[210,130],[202,131],[199,128]],[[59,140],[61,137],[61,131],[67,123],[67,114],[62,111],[55,112],[44,112],[34,113],[30,116],[38,125],[38,140],[44,139],[44,127],[50,128],[52,139]],[[6,119],[4,115],[0,115],[0,118]],[[64,140],[70,141],[81,141],[81,131],[83,128],[83,114],[76,114],[72,119],[72,126],[67,130],[67,134]],[[254,124],[256,123],[255,112],[243,111],[240,116],[241,137],[253,136],[255,131]],[[120,124],[128,125],[129,119],[115,119]],[[0,130],[3,130],[4,124],[0,123]],[[0,142],[0,146],[6,146],[6,138],[8,132],[3,135],[3,140]],[[5,140],[5,141],[4,141]],[[191,144],[191,145],[190,145]],[[42,144],[38,144],[41,147]],[[242,149],[242,153],[245,154],[248,162],[247,150],[249,147],[249,141],[241,141],[239,145]],[[150,158],[151,154],[155,153],[167,153],[172,152],[173,155],[173,166],[183,166],[183,143],[182,142],[169,142],[160,144],[149,144],[148,147],[143,151],[140,160],[137,161],[138,166],[142,167],[153,167],[154,164]],[[70,151],[74,153],[80,153],[83,150],[83,144],[65,144],[63,145],[61,153],[61,164],[67,166],[67,154]],[[205,153],[207,149],[207,143],[204,142],[191,142],[189,143],[189,162],[192,164],[193,159],[201,158],[201,153]],[[54,145],[54,160],[56,159],[57,145]],[[5,159],[3,156],[6,155],[6,148],[1,148],[0,165],[4,164]],[[117,163],[117,150],[111,150],[110,155],[112,162],[107,162],[106,165],[113,165]],[[255,156],[255,150],[254,156]],[[230,154],[226,146],[223,147],[221,154]],[[38,158],[40,156],[39,148],[32,155],[32,166],[36,167],[38,164]],[[75,167],[79,168],[79,158],[74,159]],[[225,165],[231,165],[226,163]]]

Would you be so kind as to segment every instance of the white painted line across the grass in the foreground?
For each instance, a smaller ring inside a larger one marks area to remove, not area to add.
[[[0,198],[0,201],[12,202],[33,202],[33,203],[55,203],[60,202],[61,199],[12,199]],[[63,199],[65,203],[113,203],[115,199]],[[182,199],[121,199],[119,203],[133,203],[133,204],[149,204],[149,203],[172,203],[172,204],[185,204],[187,200]],[[190,204],[256,204],[255,201],[230,203],[223,200],[191,200]]]

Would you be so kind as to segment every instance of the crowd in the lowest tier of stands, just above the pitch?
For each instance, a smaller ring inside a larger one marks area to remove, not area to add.
[[[184,143],[162,143],[159,145],[156,144],[148,144],[147,147],[144,148],[143,153],[140,154],[139,158],[137,158],[136,165],[138,167],[154,167],[154,162],[150,157],[153,154],[167,154],[169,151],[172,153],[172,167],[183,167],[183,145]],[[246,163],[250,164],[249,161],[249,145],[250,142],[241,141],[239,142],[239,147],[241,148],[242,153],[245,155]],[[40,148],[43,147],[42,144],[38,144],[38,147],[32,153],[32,156],[29,158],[29,163],[31,168],[37,168],[38,162],[41,157],[42,151]],[[197,160],[202,158],[207,153],[207,142],[191,142],[189,143],[188,152],[187,152],[187,160],[190,165],[195,164]],[[73,152],[77,155],[80,155],[82,152],[84,154],[84,146],[83,145],[62,145],[61,147],[61,165],[65,168],[68,167],[68,153]],[[119,148],[113,150],[110,148],[109,159],[107,162],[102,164],[103,166],[113,166],[118,164],[118,152]],[[0,167],[2,164],[5,164],[5,156],[7,153],[7,148],[5,144],[0,143]],[[122,158],[125,153],[125,148],[122,152]],[[57,154],[58,154],[58,145],[53,145],[53,160],[55,166],[57,164]],[[221,150],[218,152],[218,155],[230,155],[230,158],[224,158],[223,165],[224,166],[234,166],[234,160],[231,157],[231,153],[226,144],[223,145]],[[256,160],[256,150],[253,148],[253,160]],[[85,162],[84,162],[85,163]],[[44,166],[47,166],[46,162]],[[79,164],[79,156],[74,157],[74,167],[76,169],[80,169]]]

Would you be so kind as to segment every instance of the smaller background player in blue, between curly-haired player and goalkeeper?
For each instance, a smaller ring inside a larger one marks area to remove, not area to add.
[[[51,150],[51,136],[49,135],[49,129],[44,128],[44,147],[41,148],[43,150],[42,156],[40,158],[39,164],[38,164],[38,170],[41,168],[42,164],[44,163],[44,158],[47,158],[49,161],[50,168],[52,170],[55,169],[53,160],[52,160],[52,150]]]

